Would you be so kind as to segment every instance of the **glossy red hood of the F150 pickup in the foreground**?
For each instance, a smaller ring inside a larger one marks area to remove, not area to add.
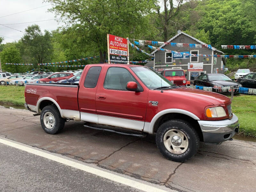
[[[163,91],[169,92],[170,95],[177,94],[177,95],[182,95],[183,97],[188,96],[190,100],[195,100],[195,101],[204,100],[208,102],[209,105],[211,105],[211,103],[212,105],[220,105],[220,104],[227,104],[231,102],[231,100],[224,95],[221,95],[219,93],[199,90],[199,89],[180,87],[176,89],[163,90]]]

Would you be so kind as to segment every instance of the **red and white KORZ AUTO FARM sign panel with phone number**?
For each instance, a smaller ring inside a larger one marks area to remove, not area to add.
[[[127,56],[127,39],[114,35],[108,35],[109,38],[109,54]]]

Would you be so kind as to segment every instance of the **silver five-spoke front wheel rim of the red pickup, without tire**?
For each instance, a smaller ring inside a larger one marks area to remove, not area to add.
[[[164,146],[173,154],[182,154],[188,149],[188,137],[179,129],[170,129],[164,134]]]

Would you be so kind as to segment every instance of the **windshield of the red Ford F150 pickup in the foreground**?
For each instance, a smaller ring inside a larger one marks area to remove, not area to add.
[[[149,89],[174,85],[151,68],[132,67],[131,69]]]

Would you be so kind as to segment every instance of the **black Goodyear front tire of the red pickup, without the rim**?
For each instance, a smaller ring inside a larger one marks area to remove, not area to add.
[[[174,154],[165,147],[164,134],[171,129],[178,129],[187,136],[188,148],[185,152],[181,154]],[[187,121],[181,119],[173,119],[164,122],[158,128],[156,132],[156,145],[162,155],[167,159],[176,162],[184,162],[196,154],[200,145],[200,139],[196,130]]]

